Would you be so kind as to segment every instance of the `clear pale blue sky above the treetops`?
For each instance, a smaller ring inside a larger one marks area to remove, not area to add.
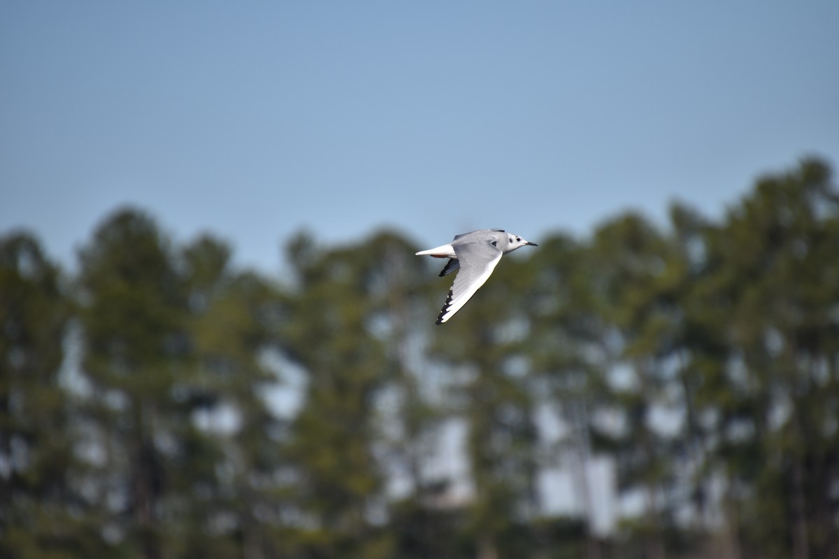
[[[839,164],[839,3],[0,3],[0,235],[131,204],[281,272],[383,227],[586,236]]]

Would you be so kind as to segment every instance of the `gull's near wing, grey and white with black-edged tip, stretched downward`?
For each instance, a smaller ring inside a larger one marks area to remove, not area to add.
[[[437,323],[441,324],[459,311],[472,295],[487,282],[501,260],[503,252],[490,241],[463,243],[455,246],[461,270],[451,285],[446,303],[440,310]]]

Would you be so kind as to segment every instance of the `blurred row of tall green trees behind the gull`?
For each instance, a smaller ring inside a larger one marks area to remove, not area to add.
[[[451,277],[398,231],[296,236],[282,278],[133,208],[72,273],[8,231],[0,556],[839,556],[827,163],[718,219],[673,204],[537,241],[435,326]],[[461,499],[440,473],[454,422]],[[606,533],[594,458],[634,504]],[[558,465],[577,514],[545,509]]]

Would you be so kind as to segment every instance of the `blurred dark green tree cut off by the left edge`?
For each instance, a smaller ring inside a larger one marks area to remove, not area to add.
[[[27,233],[0,238],[0,556],[96,555],[61,364],[70,305]]]

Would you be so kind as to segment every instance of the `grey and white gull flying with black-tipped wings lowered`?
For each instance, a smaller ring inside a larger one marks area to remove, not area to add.
[[[487,282],[501,256],[525,245],[538,246],[503,229],[479,229],[456,235],[451,243],[419,251],[416,256],[429,255],[448,258],[440,277],[460,269],[451,285],[446,304],[437,317],[442,324],[461,310],[472,295]]]

